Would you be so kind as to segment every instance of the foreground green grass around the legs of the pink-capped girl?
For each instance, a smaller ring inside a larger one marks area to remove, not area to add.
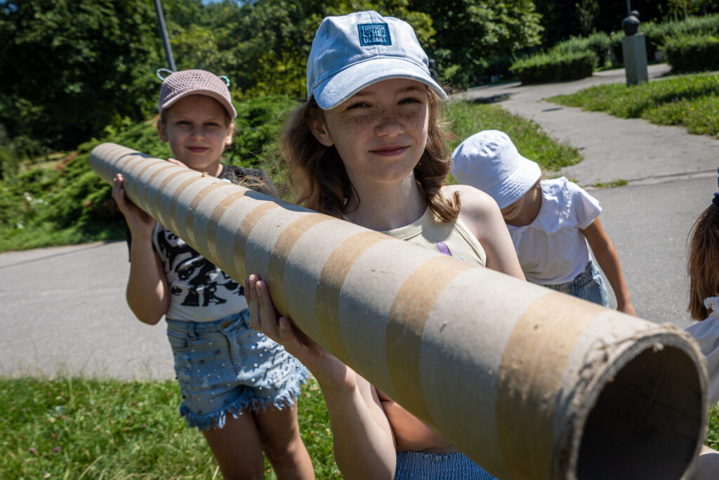
[[[178,414],[175,381],[0,379],[0,405],[4,479],[222,478],[201,433]],[[317,478],[342,478],[316,382],[298,406]]]

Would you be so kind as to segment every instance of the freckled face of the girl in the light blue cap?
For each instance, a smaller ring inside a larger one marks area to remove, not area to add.
[[[317,140],[334,145],[354,186],[413,176],[427,143],[427,88],[406,78],[362,89],[322,112],[313,126]]]

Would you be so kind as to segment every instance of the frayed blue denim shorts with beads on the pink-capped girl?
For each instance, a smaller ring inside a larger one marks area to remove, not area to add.
[[[166,319],[190,427],[224,427],[226,415],[291,407],[306,368],[249,326],[249,309],[214,322]]]

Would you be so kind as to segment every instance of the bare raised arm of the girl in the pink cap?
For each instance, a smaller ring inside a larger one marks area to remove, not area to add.
[[[140,322],[155,325],[170,307],[165,268],[159,255],[152,249],[155,219],[127,199],[119,173],[112,185],[112,197],[132,234],[127,304]]]

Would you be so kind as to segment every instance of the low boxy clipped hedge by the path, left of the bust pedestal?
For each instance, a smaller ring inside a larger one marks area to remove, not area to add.
[[[509,71],[523,84],[577,80],[592,76],[597,55],[592,51],[579,53],[543,53],[516,61]]]

